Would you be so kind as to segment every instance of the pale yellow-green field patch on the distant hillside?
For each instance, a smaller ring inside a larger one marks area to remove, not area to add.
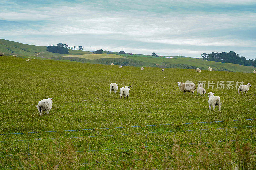
[[[63,58],[84,58],[84,59],[89,59],[89,60],[97,60],[101,58],[121,58],[125,59],[125,57],[121,55],[116,55],[116,54],[83,54],[83,55],[65,55]]]

